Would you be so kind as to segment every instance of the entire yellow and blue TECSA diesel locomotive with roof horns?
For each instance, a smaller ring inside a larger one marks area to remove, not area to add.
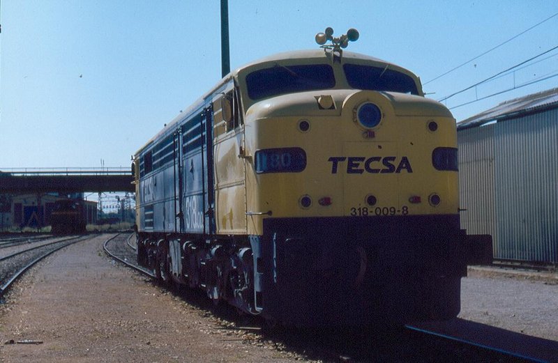
[[[135,153],[141,265],[282,325],[458,314],[492,244],[460,229],[455,119],[356,38],[230,72]]]

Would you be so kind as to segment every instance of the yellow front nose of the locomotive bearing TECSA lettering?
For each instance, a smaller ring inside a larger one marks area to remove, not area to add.
[[[329,109],[319,107],[320,98],[326,96],[285,95],[273,108],[251,110],[259,116],[247,128],[257,141],[249,146],[257,190],[251,200],[258,202],[251,210],[273,217],[455,213],[458,179],[448,165],[456,137],[447,109],[389,92],[331,91]],[[301,118],[290,108],[315,111]],[[249,218],[259,220],[257,231],[266,215],[259,216]]]

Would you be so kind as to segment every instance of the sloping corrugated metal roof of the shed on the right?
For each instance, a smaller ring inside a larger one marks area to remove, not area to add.
[[[502,102],[496,107],[492,107],[492,109],[460,121],[458,123],[458,130],[474,128],[491,121],[499,121],[504,118],[532,113],[539,109],[542,111],[543,109],[555,107],[558,107],[558,88]]]

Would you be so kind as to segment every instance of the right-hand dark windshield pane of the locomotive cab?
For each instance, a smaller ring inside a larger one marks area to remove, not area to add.
[[[371,91],[392,91],[418,95],[414,79],[409,75],[386,68],[346,63],[343,65],[349,86]]]

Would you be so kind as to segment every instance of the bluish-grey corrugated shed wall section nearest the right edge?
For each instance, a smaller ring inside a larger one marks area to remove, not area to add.
[[[497,123],[500,258],[558,263],[558,110]]]

